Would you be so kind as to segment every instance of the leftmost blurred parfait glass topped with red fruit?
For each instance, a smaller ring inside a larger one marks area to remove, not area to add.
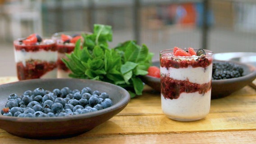
[[[32,34],[14,40],[18,80],[57,77],[57,48],[54,40]]]

